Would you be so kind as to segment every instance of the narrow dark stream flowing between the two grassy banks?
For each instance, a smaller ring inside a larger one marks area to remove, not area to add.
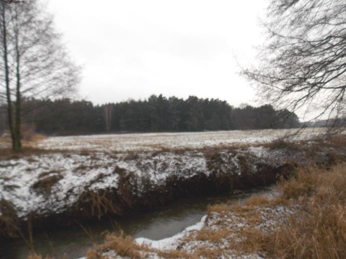
[[[208,206],[217,203],[244,202],[251,194],[272,195],[274,187],[251,189],[231,196],[186,198],[171,202],[151,212],[122,218],[111,218],[89,225],[57,229],[54,232],[33,235],[36,253],[54,258],[76,259],[86,255],[94,244],[101,243],[107,232],[119,232],[133,238],[160,240],[196,224],[206,215]],[[1,259],[25,259],[29,254],[23,239],[0,244]]]

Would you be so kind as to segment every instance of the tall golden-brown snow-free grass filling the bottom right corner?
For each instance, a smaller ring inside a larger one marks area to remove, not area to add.
[[[279,258],[346,258],[346,164],[300,168],[280,189],[302,207],[262,249]]]

